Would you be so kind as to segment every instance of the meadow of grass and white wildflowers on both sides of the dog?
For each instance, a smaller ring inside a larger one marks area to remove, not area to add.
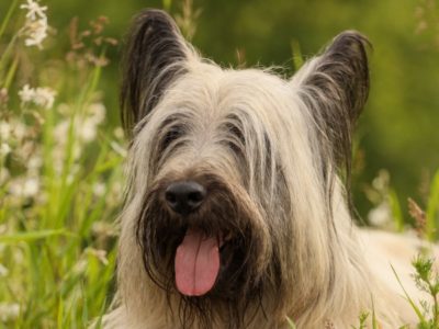
[[[108,88],[102,77],[115,70],[112,60],[119,55],[108,54],[117,52],[121,38],[108,33],[105,16],[86,25],[74,18],[68,29],[58,29],[44,1],[7,2],[0,12],[0,328],[86,328],[93,319],[99,327],[115,285],[126,155],[116,105],[106,105],[117,82]],[[161,5],[178,8],[187,36],[196,33],[194,22],[203,12],[192,1]],[[296,43],[291,58],[300,66]],[[361,139],[357,144],[359,177],[368,151]],[[364,222],[438,240],[435,170],[419,179],[420,202],[417,192],[393,186],[386,170],[363,180],[356,197],[369,201],[362,206]],[[419,316],[418,328],[439,328],[439,280],[431,262],[415,260],[414,272],[431,295],[418,306],[406,296]],[[359,317],[354,328],[378,326],[373,314]]]

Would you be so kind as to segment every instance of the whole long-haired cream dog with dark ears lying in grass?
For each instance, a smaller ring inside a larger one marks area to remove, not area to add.
[[[133,23],[117,293],[104,328],[382,328],[415,322],[419,242],[354,226],[351,144],[369,41],[346,31],[290,79],[221,68],[172,19]]]

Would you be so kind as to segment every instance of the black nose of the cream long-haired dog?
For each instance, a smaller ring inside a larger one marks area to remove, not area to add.
[[[194,181],[180,181],[169,184],[165,191],[168,205],[180,215],[188,215],[204,201],[205,189]]]

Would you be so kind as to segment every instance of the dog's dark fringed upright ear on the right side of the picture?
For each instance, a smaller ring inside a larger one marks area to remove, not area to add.
[[[323,156],[346,166],[348,177],[352,131],[369,93],[369,45],[358,32],[342,32],[292,79],[317,125]]]

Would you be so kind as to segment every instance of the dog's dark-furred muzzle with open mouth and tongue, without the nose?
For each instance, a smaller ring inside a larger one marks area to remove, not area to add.
[[[168,296],[179,295],[195,308],[213,300],[251,300],[261,288],[258,264],[266,252],[252,225],[259,223],[257,207],[249,206],[240,186],[207,174],[199,180],[209,186],[209,200],[187,215],[161,197],[168,181],[158,181],[145,195],[136,235],[146,274]]]

